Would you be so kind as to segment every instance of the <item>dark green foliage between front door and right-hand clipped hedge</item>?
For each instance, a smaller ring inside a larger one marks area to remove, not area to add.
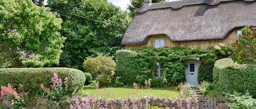
[[[199,69],[198,69],[198,82],[203,82],[203,81],[213,81],[213,65],[211,65],[208,62],[203,62],[201,63]]]

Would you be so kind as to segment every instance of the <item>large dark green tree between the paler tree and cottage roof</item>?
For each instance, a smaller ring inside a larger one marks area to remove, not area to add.
[[[49,8],[63,20],[61,34],[68,39],[63,48],[67,56],[61,60],[70,60],[71,67],[82,70],[85,57],[114,56],[123,48],[121,40],[130,18],[114,4],[106,0],[49,0]]]

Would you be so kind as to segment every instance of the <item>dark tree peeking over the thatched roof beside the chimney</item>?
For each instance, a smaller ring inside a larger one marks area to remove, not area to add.
[[[165,0],[152,0],[152,3],[165,2]],[[130,11],[129,16],[133,17],[136,14],[136,10],[143,6],[144,0],[130,0],[128,10]]]

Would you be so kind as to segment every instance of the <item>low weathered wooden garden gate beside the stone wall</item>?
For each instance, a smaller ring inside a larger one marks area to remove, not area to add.
[[[224,103],[223,98],[206,97],[204,95],[198,95],[199,109],[216,109],[221,102]]]

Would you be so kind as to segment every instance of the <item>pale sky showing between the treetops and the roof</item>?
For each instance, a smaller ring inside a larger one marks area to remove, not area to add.
[[[117,5],[122,10],[126,10],[127,5],[130,4],[130,0],[108,0],[109,2],[112,2],[114,5]],[[166,0],[168,2],[171,1],[180,1],[180,0]]]

